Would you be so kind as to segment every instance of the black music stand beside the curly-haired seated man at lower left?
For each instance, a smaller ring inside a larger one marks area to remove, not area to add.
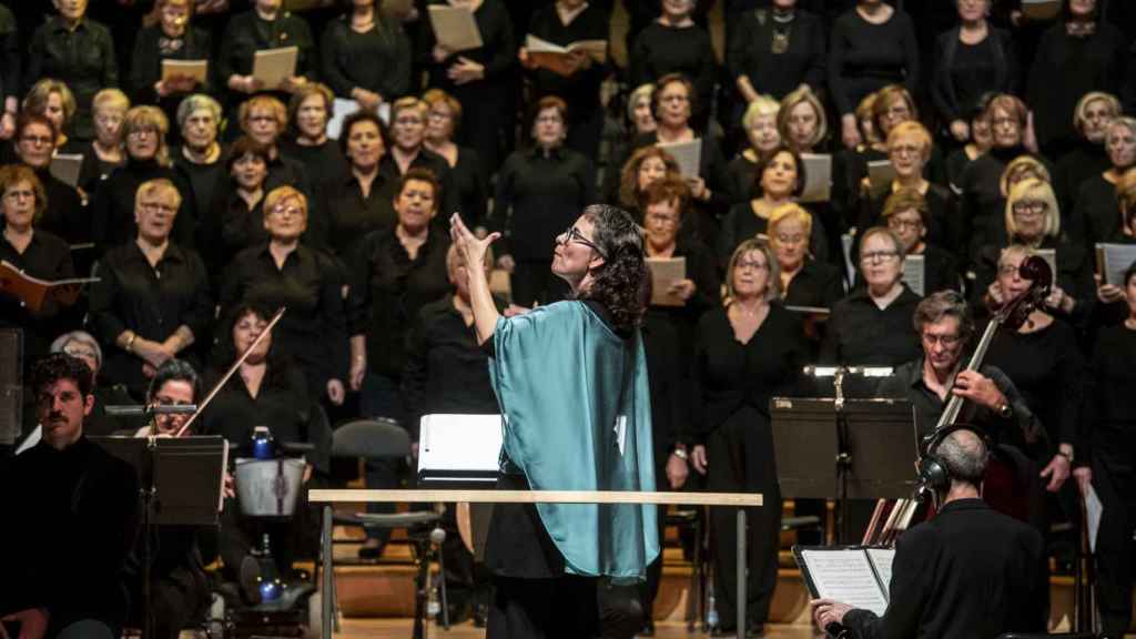
[[[145,637],[150,619],[150,526],[217,525],[228,445],[217,435],[92,437],[107,453],[134,467],[142,500],[142,571]]]

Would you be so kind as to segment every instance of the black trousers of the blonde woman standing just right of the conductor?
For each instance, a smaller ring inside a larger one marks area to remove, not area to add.
[[[769,619],[777,586],[782,499],[774,466],[769,417],[745,406],[711,431],[707,441],[707,488],[715,492],[760,492],[761,508],[746,516],[746,623]],[[718,616],[724,628],[737,617],[737,509],[710,508],[710,553]]]

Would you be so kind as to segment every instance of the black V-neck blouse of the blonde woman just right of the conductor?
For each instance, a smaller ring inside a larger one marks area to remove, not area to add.
[[[695,441],[704,442],[743,407],[768,417],[770,398],[792,396],[799,388],[807,352],[800,316],[778,304],[746,343],[734,337],[726,308],[703,315],[693,368]]]

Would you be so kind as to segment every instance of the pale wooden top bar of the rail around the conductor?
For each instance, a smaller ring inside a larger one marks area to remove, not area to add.
[[[625,490],[310,490],[314,504],[467,501],[470,504],[677,504],[761,506],[758,492],[638,492]]]

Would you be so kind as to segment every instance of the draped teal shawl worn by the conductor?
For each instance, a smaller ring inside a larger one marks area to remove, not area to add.
[[[651,398],[638,331],[621,339],[580,301],[498,321],[490,379],[503,451],[533,490],[654,490]],[[643,579],[654,505],[537,504],[567,572]]]

